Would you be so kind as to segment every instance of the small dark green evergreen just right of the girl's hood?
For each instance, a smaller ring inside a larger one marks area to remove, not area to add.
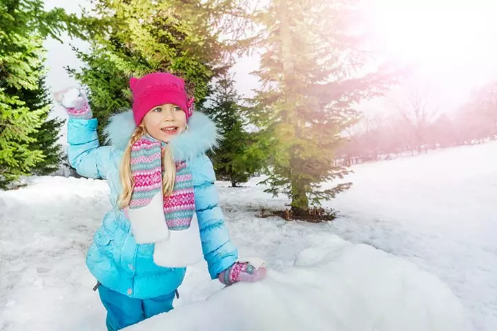
[[[236,187],[262,168],[265,156],[251,149],[256,133],[246,131],[247,123],[239,104],[240,97],[233,87],[233,77],[225,72],[214,91],[211,105],[205,112],[217,123],[224,139],[211,158],[217,179],[230,181]]]

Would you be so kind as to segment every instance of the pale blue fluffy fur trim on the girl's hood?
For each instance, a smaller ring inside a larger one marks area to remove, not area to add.
[[[133,112],[128,110],[110,118],[104,132],[107,142],[119,150],[125,150],[136,128]],[[175,161],[187,161],[217,147],[221,135],[215,123],[202,112],[194,112],[188,120],[188,130],[170,141]]]

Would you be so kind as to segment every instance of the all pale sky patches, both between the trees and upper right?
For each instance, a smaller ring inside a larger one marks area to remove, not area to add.
[[[79,12],[88,0],[45,0],[46,8],[62,6]],[[497,78],[497,1],[496,0],[367,0],[374,35],[373,44],[384,59],[415,65],[418,80],[429,82],[436,90],[437,103],[450,112],[464,102],[472,89]],[[64,66],[78,68],[81,63],[70,49],[88,46],[82,41],[64,44],[46,41],[48,49],[48,86],[59,90],[74,85]],[[234,68],[236,88],[250,94],[257,88],[257,59],[244,58]],[[382,100],[363,103],[364,112],[384,111]],[[61,110],[56,110],[61,115]]]

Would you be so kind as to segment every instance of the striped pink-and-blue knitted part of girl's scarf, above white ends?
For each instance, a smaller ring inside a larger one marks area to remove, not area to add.
[[[135,185],[130,209],[142,208],[162,190],[162,148],[166,143],[148,134],[138,139],[131,148],[131,173]],[[175,162],[176,179],[173,192],[164,197],[164,217],[169,230],[186,230],[195,213],[193,176],[184,161]]]

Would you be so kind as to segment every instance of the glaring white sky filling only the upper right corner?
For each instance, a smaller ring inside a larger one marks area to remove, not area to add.
[[[378,47],[391,59],[417,66],[416,79],[431,84],[442,110],[451,112],[471,90],[497,79],[497,1],[370,0],[368,4]]]

